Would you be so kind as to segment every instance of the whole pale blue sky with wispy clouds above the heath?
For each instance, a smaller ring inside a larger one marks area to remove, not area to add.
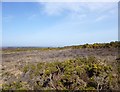
[[[61,47],[117,40],[117,2],[2,3],[2,46]]]

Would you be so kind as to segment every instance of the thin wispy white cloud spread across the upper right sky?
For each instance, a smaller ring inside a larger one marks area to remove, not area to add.
[[[111,2],[46,2],[40,3],[42,5],[42,12],[47,16],[65,15],[70,19],[84,19],[90,14],[96,16],[95,21],[101,21],[107,18],[108,13],[114,13],[117,9],[117,3]]]

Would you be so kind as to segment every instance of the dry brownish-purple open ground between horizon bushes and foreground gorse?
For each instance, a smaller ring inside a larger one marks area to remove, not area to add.
[[[8,48],[9,49],[9,48]],[[0,82],[10,83],[23,72],[21,68],[28,63],[53,62],[74,59],[77,57],[95,56],[98,59],[107,60],[114,66],[118,56],[117,48],[65,48],[60,50],[27,50],[27,51],[6,51],[2,54],[2,79]],[[11,79],[12,76],[12,79]],[[14,78],[15,77],[15,78]]]

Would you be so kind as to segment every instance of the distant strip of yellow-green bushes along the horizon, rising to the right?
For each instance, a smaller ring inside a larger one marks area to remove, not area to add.
[[[2,53],[7,52],[21,52],[21,51],[33,51],[33,50],[62,50],[66,48],[72,48],[72,49],[80,49],[80,48],[118,48],[120,47],[120,42],[110,42],[110,43],[94,43],[94,44],[84,44],[84,45],[77,45],[77,46],[65,46],[65,47],[16,47],[16,48],[3,48]]]

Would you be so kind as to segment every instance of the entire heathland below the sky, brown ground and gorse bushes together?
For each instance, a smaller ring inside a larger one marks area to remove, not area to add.
[[[3,48],[2,91],[120,90],[119,42]]]

